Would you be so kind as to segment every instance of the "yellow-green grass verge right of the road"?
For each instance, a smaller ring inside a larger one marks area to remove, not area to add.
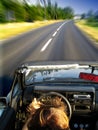
[[[98,42],[98,23],[88,23],[86,20],[76,22],[76,25],[88,34],[92,39]]]

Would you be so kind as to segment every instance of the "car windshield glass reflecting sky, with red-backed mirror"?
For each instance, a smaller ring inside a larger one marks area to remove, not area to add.
[[[40,82],[93,82],[98,83],[97,69],[85,65],[50,65],[50,66],[30,66],[25,74],[25,84],[31,85]]]

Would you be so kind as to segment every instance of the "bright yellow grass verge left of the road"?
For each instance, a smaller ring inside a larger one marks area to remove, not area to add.
[[[49,25],[58,21],[49,20],[49,21],[36,21],[34,23],[20,22],[20,23],[0,24],[0,40],[15,36],[17,34],[21,34],[31,29]]]

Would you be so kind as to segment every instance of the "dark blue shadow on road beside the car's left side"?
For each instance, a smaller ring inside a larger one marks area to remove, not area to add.
[[[0,96],[6,96],[11,89],[13,79],[7,75],[0,77]]]

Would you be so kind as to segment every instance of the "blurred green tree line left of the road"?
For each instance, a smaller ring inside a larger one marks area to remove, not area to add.
[[[32,22],[36,20],[72,19],[74,10],[71,7],[61,8],[57,2],[40,0],[36,5],[28,0],[0,0],[0,22]]]

